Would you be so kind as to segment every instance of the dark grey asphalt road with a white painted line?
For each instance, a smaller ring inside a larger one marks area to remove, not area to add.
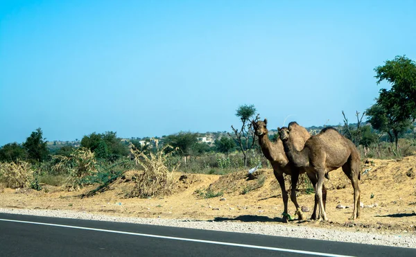
[[[416,249],[0,213],[0,256],[416,256]]]

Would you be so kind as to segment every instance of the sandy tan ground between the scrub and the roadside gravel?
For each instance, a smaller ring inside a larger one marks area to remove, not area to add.
[[[331,222],[293,220],[291,223],[307,227],[331,227],[349,231],[378,233],[408,233],[416,235],[416,156],[400,160],[369,159],[362,165],[360,181],[361,218],[352,216],[353,190],[341,170],[330,172],[327,186],[327,215]],[[44,186],[42,191],[3,188],[0,185],[0,208],[49,209],[87,211],[112,216],[214,220],[218,222],[264,222],[281,224],[283,202],[281,191],[272,170],[262,169],[255,179],[248,180],[247,172],[230,175],[175,174],[173,195],[158,199],[127,198],[132,189],[134,171],[118,179],[110,189],[93,197],[81,197],[96,188],[68,192],[62,188]],[[204,198],[200,192],[210,188],[222,197]],[[289,184],[287,183],[287,188]],[[313,194],[300,188],[298,202],[313,209]],[[336,206],[350,206],[337,209]],[[293,215],[295,206],[289,202]],[[311,212],[305,213],[309,218]]]

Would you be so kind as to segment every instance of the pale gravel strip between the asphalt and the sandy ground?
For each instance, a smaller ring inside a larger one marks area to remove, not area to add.
[[[309,238],[331,240],[338,242],[355,242],[369,245],[386,245],[392,247],[416,248],[416,236],[412,234],[383,235],[370,232],[352,232],[336,229],[298,227],[296,224],[260,224],[248,222],[204,222],[193,220],[166,220],[161,218],[126,218],[107,215],[96,215],[79,211],[53,211],[31,209],[1,209],[0,213],[37,215],[54,218],[71,218],[81,220],[101,220],[108,222],[127,222],[137,224],[152,224],[168,227],[183,227],[190,229],[206,229],[214,231],[229,231],[238,233],[254,233],[268,236],[284,236],[292,238]]]

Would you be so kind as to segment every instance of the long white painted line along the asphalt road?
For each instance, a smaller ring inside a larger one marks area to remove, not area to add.
[[[148,238],[162,238],[162,239],[180,240],[180,241],[188,241],[188,242],[202,242],[205,244],[227,245],[227,246],[232,246],[232,247],[245,247],[245,248],[263,249],[263,250],[270,250],[270,251],[285,251],[285,252],[290,252],[290,253],[295,253],[295,254],[309,254],[309,255],[315,255],[315,256],[328,256],[328,257],[353,257],[353,256],[339,255],[339,254],[325,254],[325,253],[320,253],[316,251],[301,251],[301,250],[284,249],[284,248],[277,248],[277,247],[262,247],[259,245],[244,245],[244,244],[236,244],[234,242],[218,242],[218,241],[200,240],[200,239],[192,239],[192,238],[175,238],[173,236],[158,236],[158,235],[150,235],[150,234],[144,234],[144,233],[133,233],[133,232],[116,231],[116,230],[109,230],[109,229],[95,229],[95,228],[90,228],[90,227],[77,227],[77,226],[69,226],[69,225],[62,225],[62,224],[43,223],[43,222],[30,222],[30,221],[24,221],[24,220],[0,219],[0,221],[37,224],[37,225],[44,225],[44,226],[51,226],[51,227],[64,227],[64,228],[69,228],[69,229],[101,231],[101,232],[107,232],[107,233],[119,233],[119,234],[132,235],[132,236],[146,236]]]

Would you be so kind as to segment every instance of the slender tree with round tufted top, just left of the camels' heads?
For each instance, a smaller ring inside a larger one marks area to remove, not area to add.
[[[256,108],[254,105],[240,105],[236,109],[236,116],[241,120],[241,128],[236,129],[232,125],[232,131],[234,132],[235,137],[228,133],[234,141],[239,145],[241,152],[243,152],[244,166],[247,166],[247,152],[253,148],[254,143],[256,142],[256,134],[252,128],[252,121],[256,122],[259,120],[259,114],[251,120],[251,118],[256,114]]]

